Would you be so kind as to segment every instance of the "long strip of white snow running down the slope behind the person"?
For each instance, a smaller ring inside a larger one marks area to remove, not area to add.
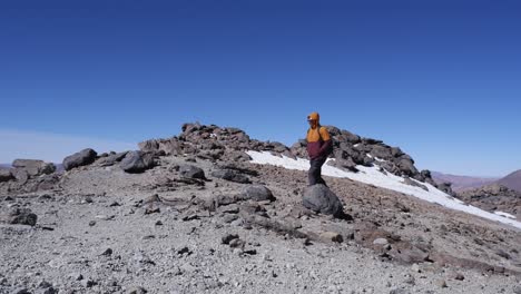
[[[274,156],[268,151],[262,151],[262,153],[247,151],[247,154],[252,157],[253,164],[275,165],[275,166],[281,166],[287,169],[297,169],[297,170],[309,169],[309,160],[307,159],[297,158],[295,160],[286,156],[281,156],[281,157]],[[328,160],[332,160],[332,159],[328,159]],[[436,203],[451,209],[461,210],[464,213],[473,214],[483,218],[488,218],[491,220],[500,222],[503,224],[508,224],[508,225],[521,228],[521,222],[514,220],[515,217],[513,216],[512,217],[514,219],[510,219],[510,218],[507,218],[509,216],[505,216],[504,213],[491,214],[478,207],[468,205],[445,194],[444,192],[439,190],[431,184],[420,183],[416,180],[419,184],[429,188],[429,190],[424,190],[420,187],[414,187],[414,186],[404,184],[402,177],[395,176],[391,173],[387,173],[387,175],[381,173],[379,170],[380,167],[377,166],[366,167],[366,166],[358,165],[356,166],[356,168],[360,171],[352,173],[352,171],[345,171],[340,168],[324,164],[324,166],[322,167],[322,175],[331,176],[331,177],[338,177],[338,178],[350,178],[350,179],[362,182],[365,184],[372,184],[377,187],[387,188],[387,189],[392,189],[392,190],[407,194],[411,196],[415,196],[420,199],[423,199],[430,203]]]

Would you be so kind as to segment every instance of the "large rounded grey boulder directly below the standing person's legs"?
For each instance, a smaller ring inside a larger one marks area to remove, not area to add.
[[[304,207],[321,214],[341,217],[344,212],[338,197],[325,185],[306,187],[302,198]]]

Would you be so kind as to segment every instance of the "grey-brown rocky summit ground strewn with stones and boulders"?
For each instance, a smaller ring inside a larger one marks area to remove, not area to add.
[[[328,129],[328,165],[435,186],[400,148]],[[0,170],[0,293],[519,293],[518,228],[348,178],[307,187],[247,154],[305,146],[185,124],[65,170],[17,159]]]

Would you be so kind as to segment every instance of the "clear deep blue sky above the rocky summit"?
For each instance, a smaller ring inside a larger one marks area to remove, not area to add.
[[[0,3],[0,161],[196,120],[291,145],[317,110],[420,168],[503,176],[520,100],[517,0]]]

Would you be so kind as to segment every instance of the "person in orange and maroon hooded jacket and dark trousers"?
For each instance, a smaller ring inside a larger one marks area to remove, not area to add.
[[[307,130],[307,154],[309,155],[309,171],[307,173],[309,186],[325,184],[322,178],[322,165],[332,151],[333,144],[330,133],[321,126],[321,117],[317,112],[307,116],[309,129]]]

